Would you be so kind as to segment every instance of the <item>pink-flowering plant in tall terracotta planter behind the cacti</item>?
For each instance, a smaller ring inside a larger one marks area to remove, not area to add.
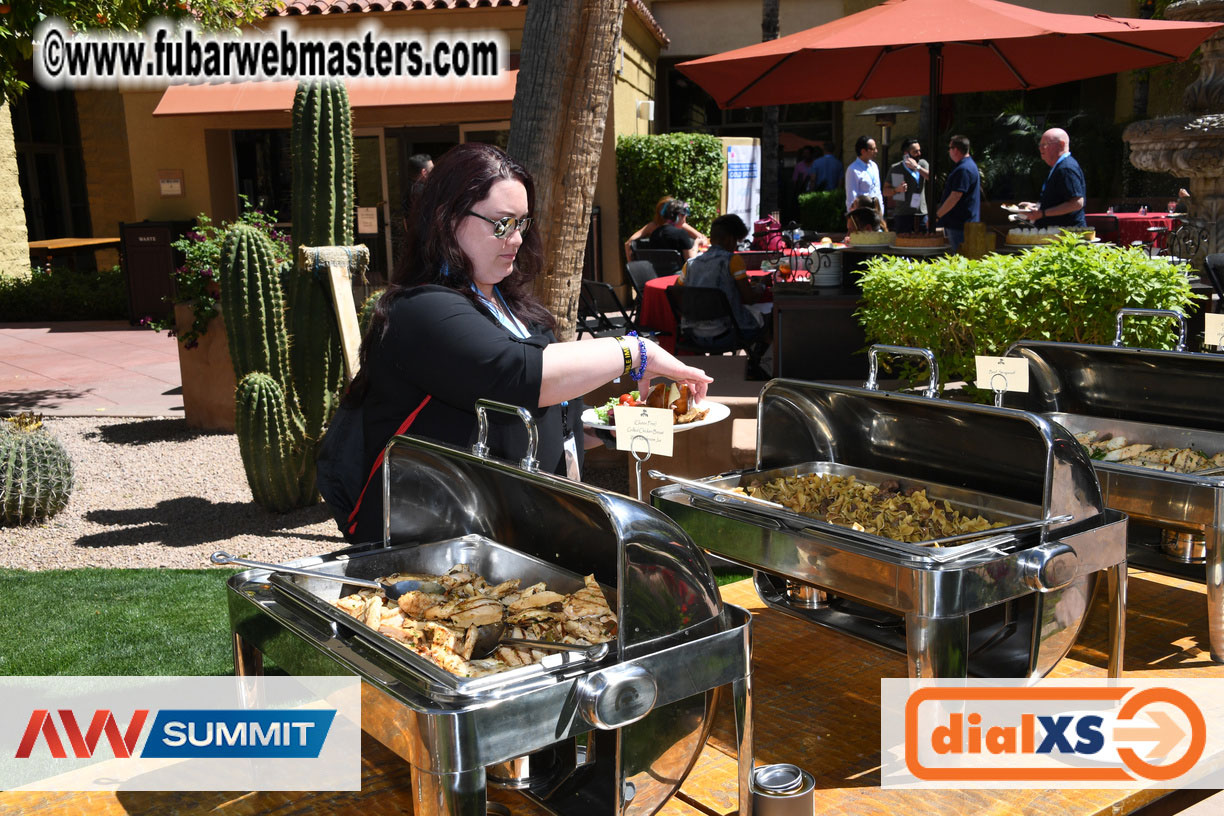
[[[242,204],[242,215],[235,221],[214,224],[201,213],[196,229],[174,242],[174,248],[184,256],[184,264],[173,273],[174,316],[142,321],[149,328],[158,332],[165,329],[170,336],[179,339],[184,412],[187,425],[196,428],[234,431],[236,380],[225,340],[217,275],[225,234],[234,224],[246,224],[272,239],[278,264],[291,258],[289,236],[277,230],[272,217],[251,209],[245,197]]]

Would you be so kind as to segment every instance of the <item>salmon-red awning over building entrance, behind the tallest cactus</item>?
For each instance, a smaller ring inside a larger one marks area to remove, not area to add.
[[[361,81],[346,82],[353,108],[397,108],[404,105],[457,105],[514,100],[518,71],[493,80],[463,81]],[[295,81],[223,82],[220,84],[176,84],[162,94],[154,116],[200,114],[247,114],[291,110]]]

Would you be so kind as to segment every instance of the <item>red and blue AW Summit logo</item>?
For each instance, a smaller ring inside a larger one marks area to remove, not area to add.
[[[60,708],[55,713],[59,714],[59,725],[50,710],[35,708],[31,712],[15,759],[29,759],[35,746],[43,743],[54,759],[88,760],[94,756],[103,735],[116,759],[135,757],[149,710],[133,711],[122,730],[110,710],[97,710],[84,733],[75,712]],[[323,747],[334,717],[335,711],[322,710],[162,710],[157,712],[138,756],[315,759]],[[65,743],[71,747],[72,757],[69,757]]]

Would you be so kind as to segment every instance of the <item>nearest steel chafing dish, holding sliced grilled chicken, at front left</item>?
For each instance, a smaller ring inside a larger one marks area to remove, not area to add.
[[[267,656],[293,674],[360,675],[362,728],[411,765],[415,812],[464,816],[483,816],[486,784],[556,814],[652,814],[696,762],[730,685],[750,812],[750,618],[722,603],[704,553],[670,519],[411,437],[388,445],[384,495],[384,542],[293,565],[378,577],[468,563],[492,582],[561,592],[594,573],[618,615],[614,648],[458,678],[334,608],[349,587],[253,569],[228,585],[239,674]]]

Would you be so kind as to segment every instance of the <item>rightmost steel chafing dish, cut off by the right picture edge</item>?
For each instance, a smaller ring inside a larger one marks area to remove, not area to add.
[[[1024,407],[1072,433],[1125,436],[1157,448],[1224,451],[1224,355],[1021,341]],[[1177,313],[1157,312],[1163,314]],[[1184,338],[1182,323],[1182,338]],[[1131,565],[1207,585],[1212,658],[1224,662],[1224,473],[1176,473],[1093,461],[1105,503],[1131,517]]]

